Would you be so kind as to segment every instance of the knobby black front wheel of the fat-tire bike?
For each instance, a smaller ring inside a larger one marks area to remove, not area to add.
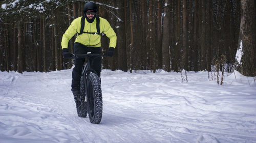
[[[90,122],[99,124],[102,118],[102,93],[100,78],[96,73],[90,73],[87,76],[87,107]]]

